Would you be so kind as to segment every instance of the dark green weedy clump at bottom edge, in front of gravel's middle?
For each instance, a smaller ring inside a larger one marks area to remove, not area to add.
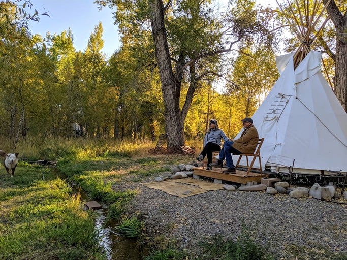
[[[254,242],[247,227],[243,224],[239,237],[234,240],[225,240],[221,235],[216,235],[211,241],[201,243],[204,248],[204,259],[221,260],[272,260],[274,257],[267,249]]]

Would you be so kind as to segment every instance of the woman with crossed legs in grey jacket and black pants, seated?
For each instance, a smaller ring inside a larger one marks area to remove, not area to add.
[[[229,138],[225,135],[222,129],[218,127],[218,121],[211,119],[208,124],[208,131],[204,137],[204,149],[199,154],[197,160],[202,161],[207,155],[207,168],[206,170],[212,170],[210,164],[212,163],[212,152],[220,151],[222,145],[222,139],[228,141]]]

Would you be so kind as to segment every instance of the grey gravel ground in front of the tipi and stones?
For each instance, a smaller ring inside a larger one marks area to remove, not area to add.
[[[217,190],[179,198],[136,183],[123,188],[139,190],[129,210],[141,214],[146,235],[170,237],[199,259],[199,241],[216,234],[235,239],[242,222],[275,259],[336,259],[335,252],[347,259],[345,204],[265,192]]]

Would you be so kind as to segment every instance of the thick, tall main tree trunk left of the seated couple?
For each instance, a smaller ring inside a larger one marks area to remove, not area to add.
[[[164,99],[165,132],[168,149],[184,145],[183,122],[180,116],[179,95],[173,74],[170,53],[164,25],[164,6],[162,0],[149,0],[151,10],[152,35],[158,62]]]

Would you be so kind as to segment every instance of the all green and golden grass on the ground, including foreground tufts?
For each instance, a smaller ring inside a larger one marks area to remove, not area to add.
[[[188,144],[191,147],[199,147]],[[201,141],[199,140],[201,143]],[[6,143],[6,140],[3,141]],[[131,140],[26,140],[17,145],[20,162],[14,178],[0,170],[0,260],[5,259],[106,259],[94,228],[96,215],[84,211],[79,193],[59,178],[62,173],[87,193],[90,199],[108,205],[108,219],[118,219],[117,231],[138,237],[153,249],[146,260],[186,259],[175,241],[165,232],[154,238],[144,237],[143,222],[138,215],[127,216],[126,205],[136,191],[121,188],[140,182],[169,168],[164,165],[191,162],[191,156],[147,154],[151,142]],[[3,150],[8,150],[4,147]],[[196,149],[197,153],[199,149]],[[29,164],[26,161],[57,161],[58,169]],[[125,185],[126,186],[126,185]],[[172,230],[174,223],[162,225]],[[81,232],[83,231],[83,232]],[[140,241],[141,242],[141,241]],[[220,236],[201,242],[201,259],[273,259],[267,248],[255,243],[245,226],[236,240]],[[325,248],[288,245],[294,256],[309,253],[319,257],[347,260],[344,253],[333,255]],[[316,257],[316,258],[314,258]],[[192,258],[190,258],[192,259]]]

